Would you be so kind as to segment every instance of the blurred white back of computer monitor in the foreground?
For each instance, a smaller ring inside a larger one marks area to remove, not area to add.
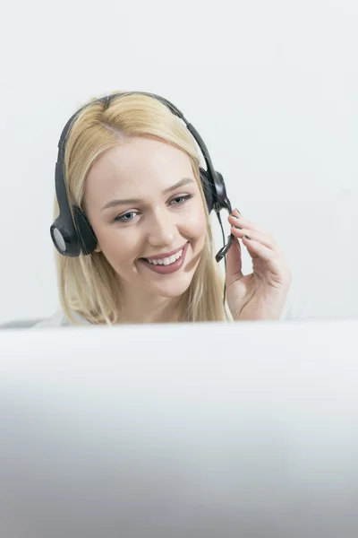
[[[0,535],[355,538],[357,329],[2,334]]]

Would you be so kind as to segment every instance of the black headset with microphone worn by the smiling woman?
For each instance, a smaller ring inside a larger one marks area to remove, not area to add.
[[[217,218],[220,222],[221,229],[222,223],[219,212],[222,209],[226,209],[229,213],[232,213],[232,207],[226,195],[226,186],[224,178],[219,172],[214,169],[209,156],[208,149],[204,141],[202,140],[198,131],[192,126],[192,124],[190,124],[185,119],[183,113],[168,100],[154,93],[147,93],[144,91],[126,91],[123,93],[114,93],[96,101],[91,101],[91,103],[80,108],[75,114],[73,114],[73,116],[70,117],[70,119],[64,126],[64,130],[58,143],[57,162],[55,163],[55,193],[60,214],[51,225],[50,232],[51,238],[54,242],[56,249],[63,256],[75,257],[80,256],[81,253],[87,256],[91,254],[98,245],[98,240],[90,225],[90,221],[87,219],[86,214],[77,205],[72,205],[74,221],[72,220],[72,213],[70,210],[70,204],[66,192],[64,169],[64,150],[68,134],[70,133],[73,123],[75,122],[83,108],[86,108],[90,106],[90,104],[94,104],[96,102],[104,102],[108,108],[111,101],[115,98],[132,94],[148,95],[149,97],[159,100],[164,105],[166,105],[166,107],[169,108],[169,110],[173,114],[175,114],[175,116],[180,117],[180,119],[183,120],[185,126],[192,133],[192,136],[198,143],[200,151],[202,152],[207,165],[206,170],[200,167],[200,180],[208,205],[209,213],[211,211],[215,211],[217,213]],[[224,256],[226,256],[226,253],[230,248],[233,239],[233,236],[230,235],[226,246],[219,250],[216,256],[217,262],[219,262]]]

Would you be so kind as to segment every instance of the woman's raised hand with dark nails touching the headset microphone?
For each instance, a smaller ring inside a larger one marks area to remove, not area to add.
[[[251,274],[243,275],[241,246],[234,240],[226,255],[226,297],[234,320],[279,319],[292,278],[284,256],[267,231],[237,210],[228,221],[234,238],[247,247],[253,267]]]

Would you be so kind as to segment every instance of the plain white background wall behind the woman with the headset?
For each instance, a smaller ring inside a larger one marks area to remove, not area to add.
[[[198,129],[310,317],[357,317],[356,0],[129,4],[2,8],[0,322],[58,308],[58,138],[85,101],[123,90],[166,97]]]

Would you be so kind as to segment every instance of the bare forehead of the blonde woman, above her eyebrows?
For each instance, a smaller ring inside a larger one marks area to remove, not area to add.
[[[137,137],[100,156],[90,169],[85,192],[102,203],[111,195],[161,192],[183,178],[194,178],[192,162],[184,152],[156,139]]]

